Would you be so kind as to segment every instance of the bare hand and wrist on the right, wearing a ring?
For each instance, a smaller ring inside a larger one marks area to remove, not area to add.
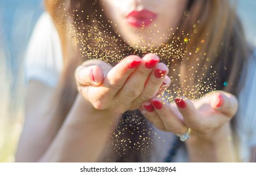
[[[80,92],[84,98],[88,98],[88,93]],[[221,103],[218,100],[219,97],[222,100]],[[155,106],[155,101],[162,104],[161,109]],[[143,107],[140,109],[146,118],[163,131],[183,134],[188,127],[192,129],[192,137],[186,142],[191,161],[238,161],[230,128],[230,119],[237,111],[238,105],[235,96],[217,91],[203,98],[193,101],[187,99],[184,102],[186,107],[181,109],[177,104],[168,104],[155,96],[141,104],[141,106],[153,106],[153,111],[146,111]]]

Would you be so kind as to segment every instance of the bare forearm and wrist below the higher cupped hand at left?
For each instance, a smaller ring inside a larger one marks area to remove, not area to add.
[[[40,161],[98,161],[117,121],[111,111],[95,109],[78,95],[58,135]]]

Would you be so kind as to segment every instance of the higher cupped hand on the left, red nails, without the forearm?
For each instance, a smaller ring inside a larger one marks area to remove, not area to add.
[[[95,109],[116,114],[138,109],[170,84],[168,68],[159,61],[155,54],[142,59],[131,55],[115,67],[100,60],[85,61],[76,69],[78,91]]]

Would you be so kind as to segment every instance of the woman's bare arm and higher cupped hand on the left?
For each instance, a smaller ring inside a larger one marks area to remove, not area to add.
[[[131,64],[134,61],[138,61],[136,66]],[[155,96],[163,81],[167,80],[170,84],[170,79],[165,79],[168,68],[158,64],[158,61],[157,56],[148,54],[142,59],[129,56],[112,69],[103,62],[98,62],[99,66],[89,66],[95,64],[94,61],[81,65],[82,69],[79,67],[76,72],[80,94],[60,128],[58,118],[46,113],[48,108],[42,108],[48,106],[51,95],[37,103],[45,94],[52,94],[53,89],[31,81],[26,103],[26,122],[16,161],[98,161],[120,114],[138,108],[141,103]],[[148,63],[154,64],[148,66]],[[91,69],[96,83],[91,79]],[[166,71],[161,78],[155,77],[158,69]],[[93,86],[84,86],[86,83]],[[131,91],[134,88],[137,88],[136,91]],[[149,88],[155,90],[149,91]],[[40,90],[45,94],[38,94]]]

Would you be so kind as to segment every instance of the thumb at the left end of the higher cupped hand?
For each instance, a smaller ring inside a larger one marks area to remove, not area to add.
[[[78,86],[99,86],[104,79],[104,73],[99,66],[81,65],[75,71],[75,78]]]

